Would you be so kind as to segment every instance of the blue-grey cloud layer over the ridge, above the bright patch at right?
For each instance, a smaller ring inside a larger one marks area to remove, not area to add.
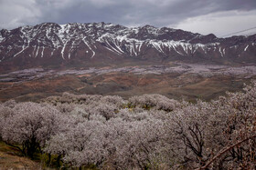
[[[101,21],[172,26],[190,17],[255,9],[255,0],[0,0],[0,26]]]

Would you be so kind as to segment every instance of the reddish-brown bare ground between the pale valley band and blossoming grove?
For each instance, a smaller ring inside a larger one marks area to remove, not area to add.
[[[111,73],[105,75],[63,75],[44,77],[23,83],[0,83],[0,101],[37,101],[50,95],[74,94],[121,95],[129,97],[143,94],[161,94],[175,99],[210,100],[225,95],[226,91],[239,91],[250,79],[232,76],[210,78],[193,74],[134,75]]]

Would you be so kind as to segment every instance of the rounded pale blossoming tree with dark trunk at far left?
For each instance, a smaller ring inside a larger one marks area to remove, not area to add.
[[[20,103],[11,113],[1,122],[2,138],[9,145],[21,145],[22,153],[32,158],[62,126],[59,111],[51,105]]]

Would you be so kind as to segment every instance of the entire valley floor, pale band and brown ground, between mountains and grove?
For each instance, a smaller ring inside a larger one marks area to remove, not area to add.
[[[256,77],[255,65],[174,63],[90,69],[32,68],[0,75],[0,101],[37,101],[63,92],[88,95],[161,94],[169,98],[210,100],[240,91]]]

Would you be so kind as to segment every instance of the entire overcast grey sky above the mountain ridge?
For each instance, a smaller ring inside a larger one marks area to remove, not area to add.
[[[256,33],[256,0],[0,0],[0,28],[44,22],[168,26],[207,35]]]

